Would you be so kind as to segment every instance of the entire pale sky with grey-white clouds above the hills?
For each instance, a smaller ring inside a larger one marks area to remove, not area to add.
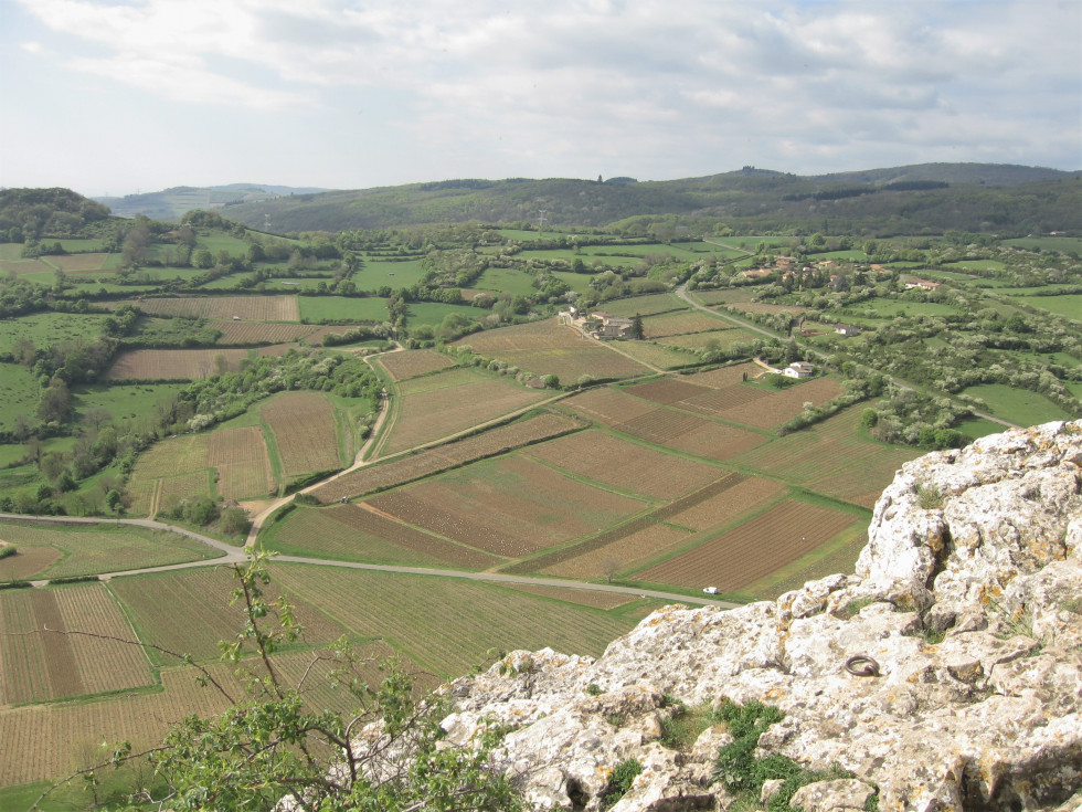
[[[0,186],[1082,168],[1082,0],[0,0]]]

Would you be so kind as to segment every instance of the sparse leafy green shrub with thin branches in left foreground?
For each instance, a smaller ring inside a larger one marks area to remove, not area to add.
[[[510,779],[492,767],[498,731],[481,728],[471,747],[443,746],[438,723],[446,708],[437,699],[418,702],[412,679],[393,662],[380,665],[383,678],[371,686],[360,677],[361,666],[371,663],[360,660],[341,640],[329,652],[314,655],[299,684],[288,685],[273,654],[297,640],[301,628],[284,599],[265,599],[263,587],[269,577],[264,553],[244,566],[234,565],[233,571],[238,581],[234,602],[241,605],[245,622],[236,637],[221,646],[223,658],[240,666],[245,695],[231,695],[190,655],[151,645],[198,669],[199,682],[223,695],[230,707],[206,719],[187,717],[161,745],[142,752],[132,752],[128,742],[120,742],[107,761],[76,773],[93,785],[95,771],[149,762],[145,785],[135,788],[124,804],[113,802],[109,809],[521,809]],[[254,669],[248,667],[253,662],[257,664]],[[315,709],[306,702],[305,684],[320,672],[348,697],[348,713]]]

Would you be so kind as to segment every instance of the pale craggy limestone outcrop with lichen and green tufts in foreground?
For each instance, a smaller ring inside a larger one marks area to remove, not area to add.
[[[879,499],[855,574],[667,607],[596,661],[515,652],[445,686],[443,727],[506,726],[502,767],[542,809],[730,808],[714,761],[733,731],[711,709],[754,702],[784,714],[754,756],[820,771],[798,809],[1079,809],[1080,465],[1082,422],[929,454]]]

